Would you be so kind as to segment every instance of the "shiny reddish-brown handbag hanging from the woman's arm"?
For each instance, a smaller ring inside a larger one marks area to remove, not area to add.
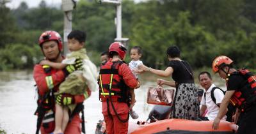
[[[148,87],[147,103],[156,105],[172,105],[174,89],[164,89],[162,86]]]

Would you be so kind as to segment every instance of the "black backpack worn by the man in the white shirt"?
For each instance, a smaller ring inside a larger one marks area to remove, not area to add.
[[[212,99],[212,101],[216,104],[216,98],[215,98],[215,96],[214,96],[214,90],[215,89],[220,89],[220,91],[222,91],[223,92],[223,94],[225,95],[225,91],[223,91],[220,87],[213,87],[212,88],[212,91],[211,91],[211,99]],[[206,94],[205,94],[205,92],[204,92],[204,100],[205,100],[205,98],[206,98],[206,96],[205,96]],[[217,104],[216,104],[217,105]],[[219,108],[220,108],[220,106],[219,105],[217,105]],[[226,115],[227,115],[227,119],[226,119],[226,121],[228,121],[228,122],[231,122],[232,121],[232,116],[234,115],[234,113],[236,113],[236,108],[235,107],[233,107],[230,103],[228,104],[228,112],[226,113]]]

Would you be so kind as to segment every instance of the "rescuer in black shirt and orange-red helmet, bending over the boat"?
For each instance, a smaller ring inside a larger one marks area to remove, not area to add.
[[[232,63],[233,61],[227,56],[216,57],[212,63],[212,71],[219,73],[227,84],[227,92],[212,128],[218,129],[220,120],[227,112],[228,103],[231,103],[240,112],[237,133],[255,134],[256,76],[245,68],[234,69]]]

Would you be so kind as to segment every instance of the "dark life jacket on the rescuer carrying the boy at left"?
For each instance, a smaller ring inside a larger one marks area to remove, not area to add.
[[[51,67],[49,66],[43,66],[44,68],[44,73],[46,75],[48,75],[49,77],[52,75],[52,73],[54,73],[51,70]],[[51,133],[52,131],[54,131],[55,128],[55,121],[54,121],[54,92],[53,92],[53,83],[52,83],[52,79],[51,78],[46,78],[47,79],[47,86],[49,87],[49,91],[45,94],[40,94],[37,87],[36,87],[36,91],[38,93],[38,100],[37,102],[37,108],[35,111],[35,115],[38,116],[37,118],[37,123],[36,123],[36,134],[39,133],[41,124],[44,127],[44,131],[47,133]],[[36,86],[36,85],[35,85]],[[89,93],[90,96],[90,93]],[[85,126],[84,126],[84,105],[83,103],[78,103],[76,105],[76,108],[74,108],[74,110],[72,111],[72,113],[70,114],[70,118],[69,121],[72,120],[72,118],[74,117],[74,115],[76,115],[77,113],[81,112],[82,113],[82,132],[85,133]]]

